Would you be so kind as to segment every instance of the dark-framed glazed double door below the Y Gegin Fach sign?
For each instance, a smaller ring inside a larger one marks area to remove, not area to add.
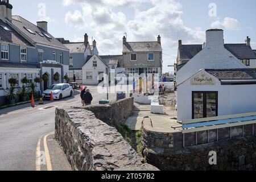
[[[192,119],[218,115],[218,92],[192,92]]]

